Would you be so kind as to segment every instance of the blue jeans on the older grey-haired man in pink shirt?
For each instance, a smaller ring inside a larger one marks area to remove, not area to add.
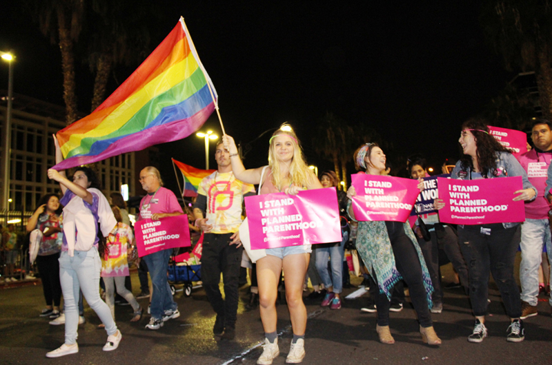
[[[151,284],[151,317],[161,320],[165,311],[176,311],[178,306],[172,300],[172,293],[167,281],[168,259],[172,249],[157,251],[144,256],[150,271]]]

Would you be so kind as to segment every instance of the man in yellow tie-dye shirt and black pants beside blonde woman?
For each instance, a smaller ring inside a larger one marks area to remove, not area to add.
[[[244,196],[255,193],[253,185],[242,183],[232,173],[230,154],[217,143],[217,171],[199,183],[194,205],[195,225],[203,231],[201,280],[211,306],[217,313],[213,333],[226,340],[235,337],[239,267],[242,244],[238,229],[242,224]],[[225,300],[219,289],[220,274]]]

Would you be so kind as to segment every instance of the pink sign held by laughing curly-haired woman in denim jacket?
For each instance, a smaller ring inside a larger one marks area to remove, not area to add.
[[[522,177],[455,180],[437,178],[444,208],[441,222],[455,225],[484,225],[523,222],[523,200],[513,201],[514,191],[523,189]]]

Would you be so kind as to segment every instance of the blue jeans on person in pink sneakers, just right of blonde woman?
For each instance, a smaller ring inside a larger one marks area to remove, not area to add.
[[[343,291],[343,258],[345,252],[345,242],[349,239],[348,232],[343,233],[343,239],[340,244],[332,247],[317,247],[315,249],[316,269],[320,274],[322,283],[326,288],[333,286],[334,293]],[[328,271],[328,256],[332,273]]]

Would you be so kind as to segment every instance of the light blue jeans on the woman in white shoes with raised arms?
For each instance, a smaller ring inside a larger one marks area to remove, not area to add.
[[[75,251],[73,257],[70,257],[67,251],[61,252],[59,281],[61,282],[65,311],[65,343],[68,345],[77,342],[79,290],[82,290],[86,302],[106,326],[108,335],[117,333],[117,325],[108,305],[99,298],[100,271],[101,260],[95,247],[89,251]]]

